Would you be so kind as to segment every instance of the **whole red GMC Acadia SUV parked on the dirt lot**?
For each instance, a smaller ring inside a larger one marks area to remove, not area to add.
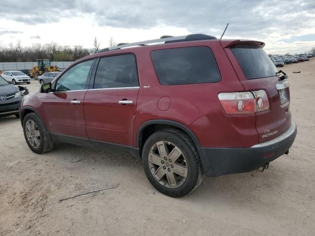
[[[26,142],[36,153],[60,141],[127,152],[171,197],[204,174],[266,169],[288,153],[297,129],[287,76],[263,46],[191,34],[79,59],[23,99]]]

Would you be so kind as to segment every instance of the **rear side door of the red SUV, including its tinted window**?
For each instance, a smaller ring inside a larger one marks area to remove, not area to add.
[[[99,59],[95,81],[84,99],[90,142],[132,146],[139,80],[133,54]]]

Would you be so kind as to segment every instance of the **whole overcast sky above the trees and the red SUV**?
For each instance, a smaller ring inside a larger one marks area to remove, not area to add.
[[[218,2],[219,1],[219,2]],[[161,35],[256,39],[268,53],[315,47],[315,0],[1,0],[0,46],[57,42],[93,48]]]

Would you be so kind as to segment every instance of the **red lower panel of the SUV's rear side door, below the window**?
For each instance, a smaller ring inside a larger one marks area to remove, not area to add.
[[[88,138],[132,146],[138,90],[88,90],[84,99]],[[133,103],[118,104],[120,100],[131,100]]]

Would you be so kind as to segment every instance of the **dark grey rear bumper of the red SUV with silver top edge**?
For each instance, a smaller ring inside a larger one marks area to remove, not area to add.
[[[197,148],[204,173],[218,177],[257,170],[283,155],[292,146],[296,133],[296,124],[292,121],[282,135],[251,148]]]

